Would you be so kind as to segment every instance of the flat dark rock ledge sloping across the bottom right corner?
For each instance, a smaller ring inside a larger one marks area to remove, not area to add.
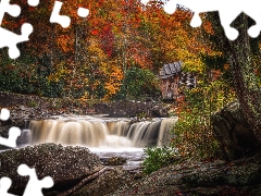
[[[108,195],[258,196],[261,195],[261,155],[232,162],[187,161],[169,166]]]

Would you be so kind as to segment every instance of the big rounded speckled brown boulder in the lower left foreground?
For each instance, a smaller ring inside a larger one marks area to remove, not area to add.
[[[48,192],[65,191],[104,168],[99,157],[88,148],[55,144],[7,150],[0,154],[0,176],[10,177],[10,193],[18,195],[22,195],[28,182],[27,176],[17,174],[17,168],[22,163],[35,168],[39,180],[48,175],[52,177],[54,186]]]

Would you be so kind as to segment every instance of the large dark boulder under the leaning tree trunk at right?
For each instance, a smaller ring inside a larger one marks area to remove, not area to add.
[[[232,101],[211,117],[216,139],[224,158],[234,160],[253,155],[260,149],[238,101]]]

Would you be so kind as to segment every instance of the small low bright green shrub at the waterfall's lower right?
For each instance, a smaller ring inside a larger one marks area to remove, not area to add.
[[[146,158],[142,162],[142,172],[150,174],[171,162],[177,160],[175,148],[171,147],[148,147],[145,149]]]

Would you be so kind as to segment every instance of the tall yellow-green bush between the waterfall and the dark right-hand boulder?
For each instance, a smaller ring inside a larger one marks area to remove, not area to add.
[[[235,99],[235,93],[226,82],[216,79],[201,83],[197,88],[184,90],[186,102],[178,113],[173,132],[172,146],[184,158],[211,159],[219,157],[219,142],[213,136],[211,115]]]

